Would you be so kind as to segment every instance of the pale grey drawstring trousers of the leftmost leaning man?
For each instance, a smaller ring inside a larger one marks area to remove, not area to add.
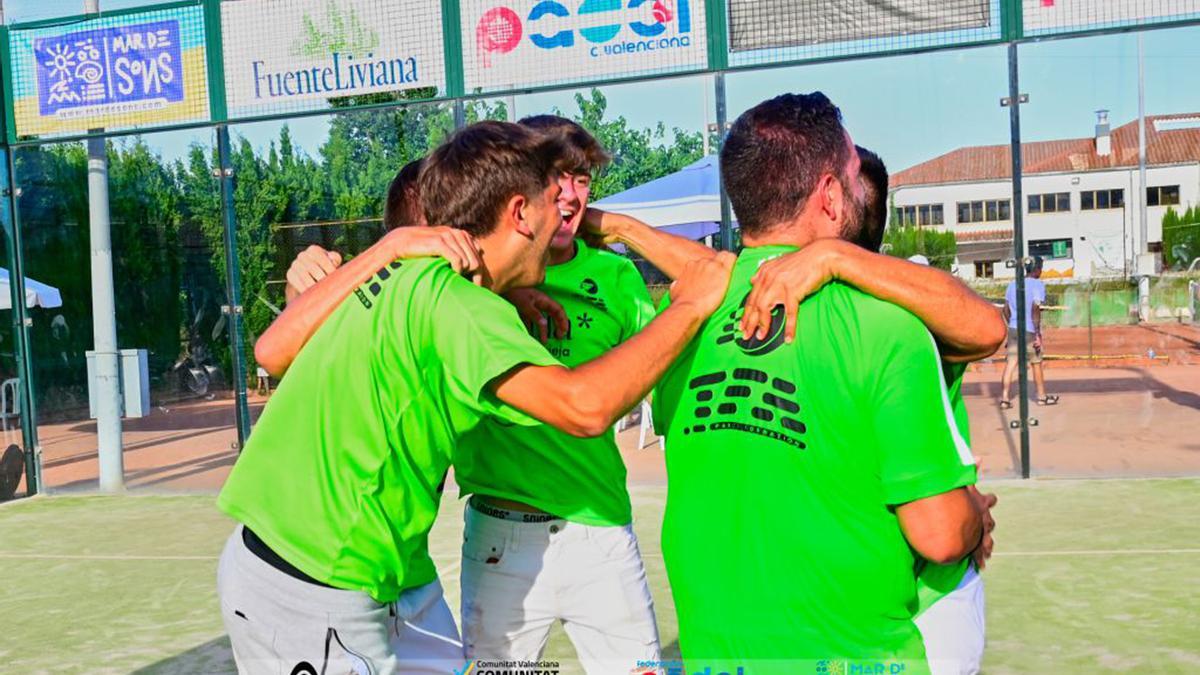
[[[318,586],[254,555],[239,525],[217,563],[221,617],[238,673],[450,674],[463,668],[458,628],[433,581],[382,604]]]

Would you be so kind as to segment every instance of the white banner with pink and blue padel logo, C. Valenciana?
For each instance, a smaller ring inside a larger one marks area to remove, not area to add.
[[[468,91],[704,68],[704,0],[463,0]]]

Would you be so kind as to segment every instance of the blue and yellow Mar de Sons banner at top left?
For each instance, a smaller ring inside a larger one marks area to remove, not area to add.
[[[11,34],[19,136],[209,117],[200,7]]]

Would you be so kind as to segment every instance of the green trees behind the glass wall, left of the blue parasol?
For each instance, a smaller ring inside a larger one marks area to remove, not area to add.
[[[454,108],[426,102],[437,92],[372,94],[331,101],[329,136],[314,156],[300,150],[287,125],[266,148],[234,136],[232,163],[236,253],[245,339],[252,345],[283,304],[292,258],[308,244],[347,256],[380,234],[388,184],[404,163],[428,154],[454,130]],[[409,102],[402,107],[362,106]],[[614,156],[598,175],[593,198],[653,180],[700,159],[700,133],[634,129],[607,115],[598,90],[577,95],[570,115]],[[506,119],[503,102],[464,106],[466,121]],[[56,286],[64,306],[37,310],[34,357],[43,412],[86,405],[84,351],[92,345],[86,150],[70,143],[16,153],[26,274]],[[170,392],[172,366],[196,347],[228,371],[224,211],[214,175],[216,150],[196,144],[164,162],[142,138],[110,143],[118,340],[150,351],[156,396]],[[70,327],[52,335],[61,315]],[[247,351],[247,358],[253,354]],[[251,375],[253,362],[251,360]],[[49,400],[47,400],[49,399]],[[67,401],[67,402],[64,402]],[[49,404],[48,406],[46,404]]]

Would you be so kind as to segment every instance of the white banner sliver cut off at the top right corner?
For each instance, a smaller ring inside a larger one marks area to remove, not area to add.
[[[1024,0],[1026,35],[1200,18],[1200,0]]]

